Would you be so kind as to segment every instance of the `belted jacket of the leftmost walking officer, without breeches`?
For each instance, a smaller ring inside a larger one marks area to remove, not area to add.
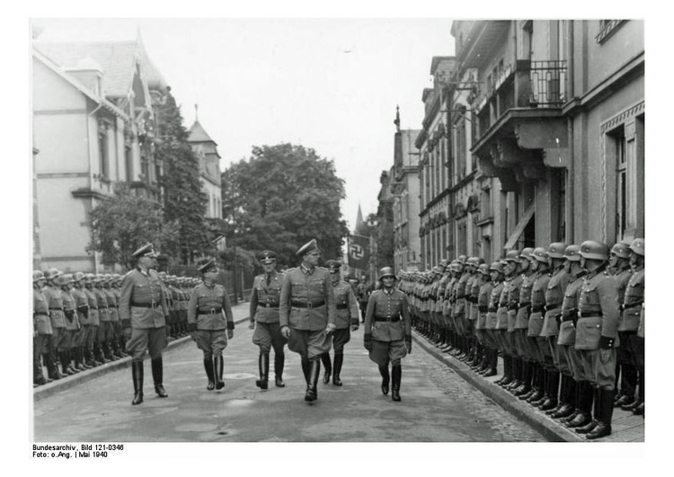
[[[140,330],[161,328],[166,324],[168,308],[159,275],[132,269],[121,282],[120,320]]]

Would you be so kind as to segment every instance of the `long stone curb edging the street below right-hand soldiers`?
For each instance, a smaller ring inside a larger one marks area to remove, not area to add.
[[[525,402],[519,401],[517,396],[512,395],[498,384],[493,384],[481,375],[476,375],[474,371],[453,356],[439,351],[430,344],[416,331],[412,331],[412,338],[417,345],[424,351],[427,351],[433,358],[438,359],[445,366],[452,368],[457,375],[460,375],[467,383],[471,384],[478,391],[496,402],[501,408],[509,411],[519,420],[526,422],[529,426],[537,430],[543,437],[551,442],[585,442],[585,439],[578,437],[575,433],[554,420],[536,408],[529,406]]]

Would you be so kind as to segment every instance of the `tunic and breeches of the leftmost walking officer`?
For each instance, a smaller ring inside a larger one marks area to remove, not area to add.
[[[120,320],[124,328],[131,327],[127,351],[133,358],[143,358],[148,349],[151,358],[162,356],[162,349],[168,344],[164,331],[167,316],[164,290],[156,271],[129,271],[121,282]]]

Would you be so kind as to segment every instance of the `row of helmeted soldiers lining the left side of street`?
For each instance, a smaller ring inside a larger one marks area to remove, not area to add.
[[[33,271],[33,385],[129,356],[120,322],[119,274]],[[168,340],[187,336],[187,304],[200,280],[159,273]],[[47,376],[43,367],[47,368]]]

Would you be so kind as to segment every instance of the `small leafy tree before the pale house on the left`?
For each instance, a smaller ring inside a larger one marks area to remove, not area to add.
[[[102,252],[108,265],[134,267],[132,253],[151,242],[159,251],[170,249],[178,241],[178,227],[166,222],[161,207],[151,199],[137,196],[129,187],[115,184],[115,195],[103,200],[90,213],[92,241],[87,252]]]

